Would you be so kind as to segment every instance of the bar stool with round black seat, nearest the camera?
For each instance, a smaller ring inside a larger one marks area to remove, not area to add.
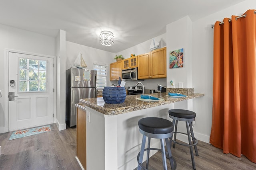
[[[174,126],[172,122],[159,117],[145,117],[138,121],[138,125],[140,128],[140,133],[142,133],[143,135],[141,149],[137,156],[138,170],[141,170],[141,169],[148,170],[150,150],[159,150],[162,152],[164,170],[167,170],[166,153],[164,149],[164,139],[165,139],[166,147],[168,150],[168,158],[170,160],[171,168],[172,170],[176,169],[176,161],[172,157],[172,152],[170,147],[170,145],[172,144],[168,140],[169,138],[172,138],[172,135],[173,135]],[[145,149],[146,137],[148,137],[148,148]],[[150,148],[151,138],[160,139],[161,149]],[[142,160],[143,160],[144,151],[146,150],[147,150],[147,159],[146,159],[146,168],[145,168],[142,166]]]

